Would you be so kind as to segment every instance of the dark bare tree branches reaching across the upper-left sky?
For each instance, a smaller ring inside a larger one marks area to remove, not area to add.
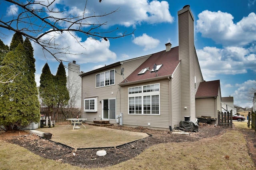
[[[43,51],[50,53],[50,55],[59,62],[63,61],[59,59],[59,56],[75,54],[69,52],[69,47],[61,47],[56,44],[54,41],[56,36],[53,35],[51,38],[45,39],[46,35],[51,35],[51,33],[58,33],[61,35],[62,33],[67,32],[73,37],[76,37],[75,35],[79,33],[92,39],[103,38],[105,41],[108,41],[108,39],[125,37],[134,33],[134,31],[131,33],[124,32],[123,35],[112,36],[111,33],[117,31],[118,28],[109,31],[100,31],[100,27],[106,25],[107,22],[100,23],[98,18],[103,18],[119,12],[119,9],[100,15],[96,15],[94,12],[93,15],[88,16],[86,11],[88,0],[85,2],[82,14],[70,14],[63,18],[56,17],[56,14],[64,14],[64,11],[56,10],[54,8],[56,0],[48,0],[45,2],[28,0],[24,1],[25,3],[19,0],[4,1],[10,5],[16,5],[20,12],[16,11],[16,13],[18,12],[18,15],[13,14],[12,19],[8,21],[0,18],[0,27],[20,33],[24,37],[28,37],[30,40],[34,41],[34,43],[40,45]],[[76,41],[78,42],[77,39]],[[80,42],[78,43],[81,45]],[[81,45],[81,47],[83,46]]]

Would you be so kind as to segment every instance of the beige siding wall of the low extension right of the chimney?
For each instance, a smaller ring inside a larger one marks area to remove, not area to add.
[[[215,98],[196,99],[196,117],[215,117]]]

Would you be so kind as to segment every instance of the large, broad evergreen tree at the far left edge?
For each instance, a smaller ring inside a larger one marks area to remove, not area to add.
[[[20,43],[5,55],[0,75],[16,74],[11,83],[0,84],[0,124],[5,130],[21,129],[40,119],[39,101],[26,72],[26,50]],[[8,65],[8,66],[7,66]]]

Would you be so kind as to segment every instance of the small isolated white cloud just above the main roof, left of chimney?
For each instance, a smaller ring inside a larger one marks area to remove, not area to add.
[[[132,42],[136,45],[144,47],[144,51],[154,49],[160,43],[158,39],[154,39],[153,37],[148,36],[146,33],[144,33],[142,36],[135,37]]]

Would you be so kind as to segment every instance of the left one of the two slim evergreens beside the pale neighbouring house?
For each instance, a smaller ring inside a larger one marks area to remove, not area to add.
[[[56,90],[54,88],[53,75],[47,63],[44,65],[40,76],[39,95],[42,104],[49,107],[49,109],[56,106]]]

